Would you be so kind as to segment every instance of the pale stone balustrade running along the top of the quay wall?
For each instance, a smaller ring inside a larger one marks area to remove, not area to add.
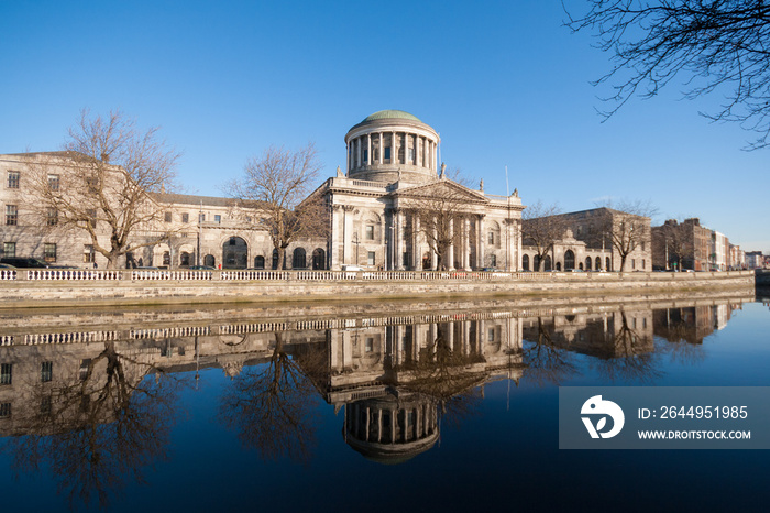
[[[659,272],[488,272],[488,271],[312,271],[312,270],[221,270],[190,271],[176,270],[86,270],[86,269],[34,269],[34,270],[0,270],[1,281],[68,281],[68,282],[105,282],[105,281],[226,281],[226,282],[260,282],[260,281],[583,281],[583,280],[634,280],[653,281],[685,281],[698,277],[728,277],[751,273],[749,271],[715,271],[697,273],[659,273]]]

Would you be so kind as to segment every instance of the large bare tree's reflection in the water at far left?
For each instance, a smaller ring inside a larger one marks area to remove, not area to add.
[[[28,434],[0,448],[16,476],[50,468],[70,507],[107,507],[111,494],[144,482],[144,471],[167,458],[178,382],[113,341],[72,378],[35,385],[31,400],[41,406],[23,418]]]

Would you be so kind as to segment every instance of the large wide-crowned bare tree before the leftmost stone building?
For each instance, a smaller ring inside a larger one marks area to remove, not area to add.
[[[111,269],[120,256],[165,240],[167,232],[153,228],[167,205],[153,193],[173,186],[179,154],[157,139],[157,131],[139,131],[120,111],[107,118],[81,111],[64,152],[29,161],[25,207],[42,226],[88,233]]]

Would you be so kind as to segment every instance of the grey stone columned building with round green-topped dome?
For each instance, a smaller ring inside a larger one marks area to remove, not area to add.
[[[344,138],[338,167],[314,194],[331,206],[328,266],[476,270],[521,266],[521,199],[446,176],[438,132],[416,116],[382,110]]]

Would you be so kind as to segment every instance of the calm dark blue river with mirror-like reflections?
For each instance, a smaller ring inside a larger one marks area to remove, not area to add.
[[[0,314],[2,511],[766,510],[762,450],[560,450],[560,386],[768,386],[719,297]],[[492,510],[494,509],[494,510]]]

